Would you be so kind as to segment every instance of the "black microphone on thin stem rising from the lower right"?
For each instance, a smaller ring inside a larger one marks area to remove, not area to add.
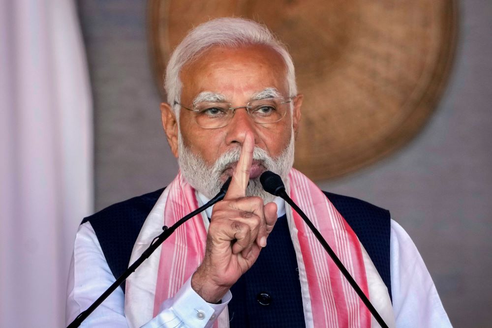
[[[376,309],[374,306],[371,304],[369,301],[369,298],[364,294],[362,289],[357,285],[357,282],[355,282],[354,278],[350,275],[350,272],[343,266],[343,263],[341,263],[340,259],[338,259],[337,254],[333,251],[333,249],[328,245],[328,242],[323,238],[323,236],[319,233],[318,229],[312,224],[312,222],[307,218],[306,214],[294,203],[294,201],[289,197],[287,192],[285,191],[285,186],[283,184],[282,178],[280,178],[279,175],[270,172],[270,171],[265,171],[262,173],[260,176],[260,182],[261,185],[263,186],[263,189],[265,189],[266,192],[271,193],[274,196],[278,196],[285,200],[301,217],[303,218],[304,222],[306,222],[307,226],[311,231],[313,232],[314,236],[318,239],[318,241],[321,243],[321,245],[325,248],[327,253],[330,255],[332,258],[333,262],[337,265],[337,267],[340,269],[341,273],[343,276],[347,279],[347,281],[350,283],[350,286],[355,290],[357,295],[359,295],[359,298],[362,299],[366,307],[369,309],[369,312],[374,316],[376,321],[381,327],[388,328],[386,323],[384,322],[383,318],[377,313]]]

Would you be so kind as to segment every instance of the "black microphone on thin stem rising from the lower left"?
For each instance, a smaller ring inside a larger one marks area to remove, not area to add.
[[[125,281],[126,278],[128,278],[130,276],[130,274],[132,274],[138,267],[140,267],[140,265],[149,258],[149,256],[151,256],[152,253],[154,253],[154,251],[157,249],[157,247],[160,246],[160,244],[162,242],[164,242],[164,240],[168,239],[169,236],[171,236],[173,234],[173,232],[179,227],[181,226],[184,222],[186,222],[187,220],[189,220],[190,218],[192,218],[193,216],[195,216],[196,214],[200,213],[201,211],[204,211],[205,209],[208,209],[209,207],[211,207],[212,205],[214,205],[215,203],[221,201],[226,192],[227,192],[227,189],[229,188],[229,184],[231,183],[231,179],[229,177],[229,179],[227,179],[227,181],[224,182],[224,184],[222,185],[222,187],[220,188],[220,191],[215,195],[214,198],[212,198],[210,201],[207,202],[207,204],[199,207],[198,209],[195,209],[194,211],[192,211],[191,213],[189,213],[188,215],[184,216],[183,218],[181,218],[179,221],[177,221],[175,224],[173,224],[170,228],[168,228],[167,226],[163,226],[162,227],[162,230],[164,230],[159,236],[155,237],[151,244],[149,245],[149,247],[142,253],[142,255],[140,255],[140,257],[135,261],[133,262],[133,264],[131,266],[129,266],[123,273],[122,275],[116,279],[116,281],[108,287],[108,289],[99,297],[97,298],[91,306],[89,306],[87,308],[87,310],[85,311],[82,311],[71,323],[70,325],[67,326],[67,328],[74,328],[74,327],[79,327],[80,324],[86,320],[86,318],[106,299],[108,298],[108,296],[111,295],[111,293],[113,293],[117,288],[118,286],[120,286],[123,281]]]

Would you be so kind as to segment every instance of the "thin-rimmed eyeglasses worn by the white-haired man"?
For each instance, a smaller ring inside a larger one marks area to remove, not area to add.
[[[287,104],[292,102],[292,98],[266,98],[252,100],[246,106],[232,107],[232,104],[225,102],[200,102],[193,106],[193,109],[175,101],[175,105],[180,105],[184,109],[196,113],[196,123],[205,129],[216,129],[224,127],[234,117],[234,113],[239,108],[246,109],[247,114],[255,123],[271,124],[283,119],[287,113]]]

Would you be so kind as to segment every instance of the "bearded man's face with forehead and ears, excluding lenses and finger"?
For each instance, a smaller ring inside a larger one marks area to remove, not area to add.
[[[276,90],[285,99],[289,96],[286,68],[282,58],[271,48],[259,45],[239,49],[212,47],[198,60],[184,66],[181,81],[181,103],[188,108],[193,108],[197,97],[203,97],[204,94],[218,95],[225,102],[231,103],[232,107],[245,106],[249,101],[261,96],[262,92],[268,93],[272,90]],[[202,177],[204,180],[211,178],[211,171],[218,170],[219,172],[213,174],[217,177],[212,179],[219,179],[217,185],[225,181],[235,168],[239,149],[246,135],[253,136],[258,160],[253,161],[250,179],[255,179],[267,169],[275,171],[276,165],[292,165],[293,133],[297,130],[301,102],[302,97],[295,98],[289,106],[292,110],[288,110],[286,116],[276,123],[255,123],[246,110],[240,108],[236,110],[228,125],[215,129],[200,127],[195,120],[197,114],[182,108],[179,131],[177,124],[170,122],[173,118],[169,117],[169,106],[164,106],[164,128],[171,148],[179,158],[183,174],[192,185],[194,183],[190,180],[200,177],[189,175],[203,170],[210,171],[206,177]],[[276,160],[282,163],[275,163]],[[201,161],[198,167],[195,165],[197,161]],[[269,167],[272,165],[274,167]],[[206,196],[215,195],[210,195],[213,190],[200,190],[199,186],[193,186]]]

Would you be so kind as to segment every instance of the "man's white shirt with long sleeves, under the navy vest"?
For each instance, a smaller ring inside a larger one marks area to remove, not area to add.
[[[199,201],[204,203],[200,198]],[[276,203],[277,215],[282,216],[285,204],[278,199]],[[397,327],[451,327],[417,247],[394,220],[391,220],[390,270]],[[115,280],[91,223],[80,225],[68,276],[67,324],[87,309]],[[161,312],[143,327],[211,327],[231,298],[228,292],[221,304],[207,303],[191,288],[188,279],[173,298],[162,303]],[[81,327],[128,327],[124,316],[123,290],[115,290]]]

